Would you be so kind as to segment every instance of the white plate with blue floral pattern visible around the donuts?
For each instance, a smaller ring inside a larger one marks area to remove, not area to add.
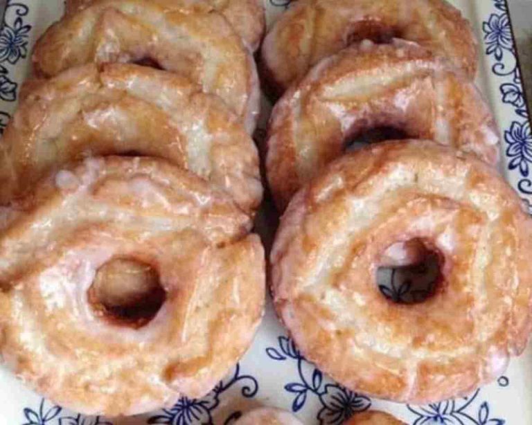
[[[269,22],[289,0],[265,0]],[[478,84],[495,111],[502,136],[502,172],[532,213],[532,133],[505,0],[454,0],[481,42]],[[62,15],[61,0],[8,0],[0,33],[0,130],[17,103],[39,35]],[[265,102],[266,103],[266,102]],[[265,105],[265,109],[269,109]],[[263,117],[263,123],[267,114]],[[262,132],[263,133],[263,132]],[[259,131],[260,135],[261,132]],[[400,296],[400,282],[392,289]],[[452,318],[450,318],[452,320]],[[307,363],[278,325],[270,305],[254,345],[203,399],[180,399],[166,410],[125,419],[82,417],[27,390],[0,369],[0,425],[231,424],[242,411],[277,406],[305,424],[339,425],[353,412],[378,408],[409,424],[532,424],[532,347],[506,374],[469,397],[429,406],[393,404],[345,390]]]

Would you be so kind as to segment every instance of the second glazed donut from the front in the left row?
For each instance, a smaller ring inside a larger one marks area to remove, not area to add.
[[[0,203],[69,161],[134,153],[195,172],[246,213],[260,204],[254,142],[220,99],[187,78],[132,64],[87,64],[30,83],[21,98],[0,141]]]

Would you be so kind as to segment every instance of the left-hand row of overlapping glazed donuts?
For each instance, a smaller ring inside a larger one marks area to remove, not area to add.
[[[3,360],[57,404],[202,397],[263,316],[256,0],[67,1],[0,141]]]

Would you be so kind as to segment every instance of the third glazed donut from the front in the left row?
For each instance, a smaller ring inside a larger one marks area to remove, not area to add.
[[[251,53],[220,13],[179,3],[94,0],[46,30],[35,45],[35,72],[49,78],[89,62],[152,61],[220,96],[251,133],[260,93]]]

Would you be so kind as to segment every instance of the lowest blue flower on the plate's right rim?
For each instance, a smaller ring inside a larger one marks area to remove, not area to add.
[[[511,158],[510,170],[519,168],[523,177],[528,177],[532,163],[532,133],[529,121],[512,123],[509,130],[504,132],[504,140],[508,143],[506,155]]]

